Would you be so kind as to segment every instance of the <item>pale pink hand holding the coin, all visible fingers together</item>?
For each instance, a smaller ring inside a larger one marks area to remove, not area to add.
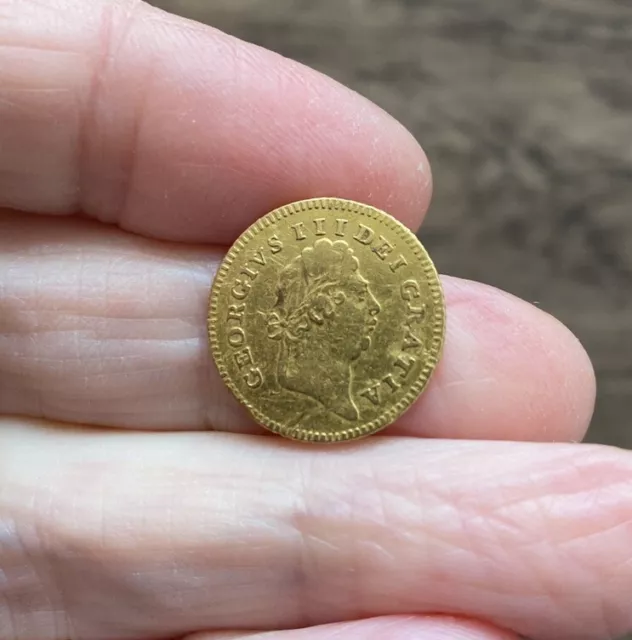
[[[430,169],[363,98],[210,28],[0,0],[0,637],[632,630],[632,454],[573,444],[594,376],[546,313],[445,278],[432,384],[358,444],[262,435],[221,384],[226,246],[321,195],[415,229]]]

